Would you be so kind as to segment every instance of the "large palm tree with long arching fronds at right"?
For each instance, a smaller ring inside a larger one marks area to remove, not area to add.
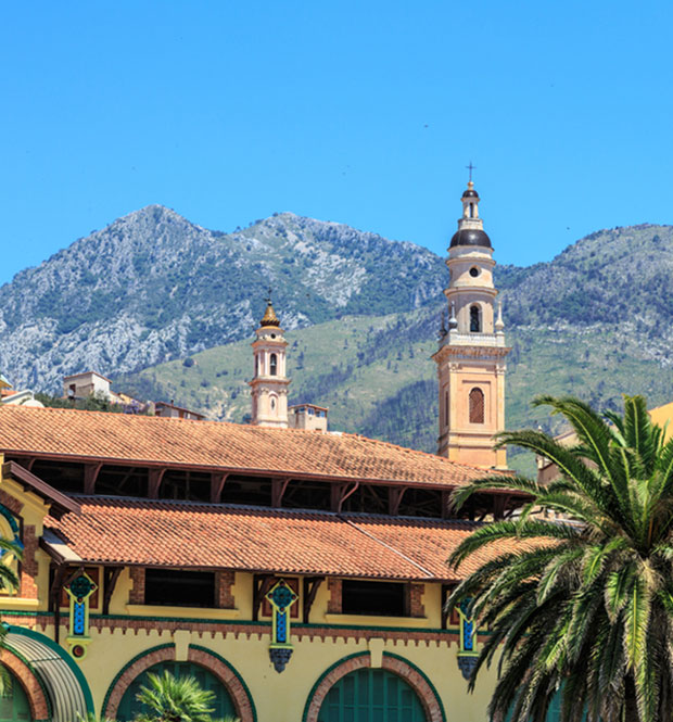
[[[449,559],[459,568],[477,555],[479,569],[448,605],[469,599],[478,625],[491,631],[470,687],[498,659],[494,720],[542,722],[558,694],[562,722],[669,722],[673,439],[664,441],[642,396],[624,397],[623,416],[602,417],[572,397],[534,404],[566,417],[577,443],[518,431],[499,434],[497,445],[549,459],[558,480],[491,477],[454,495],[457,507],[485,490],[519,494],[523,504],[518,517],[480,527]]]

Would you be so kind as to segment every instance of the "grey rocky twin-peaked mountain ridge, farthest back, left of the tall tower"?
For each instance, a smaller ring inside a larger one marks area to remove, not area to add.
[[[434,301],[442,262],[292,213],[223,233],[152,205],[0,289],[0,368],[55,391],[67,373],[114,375],[246,338],[269,287],[294,329]]]

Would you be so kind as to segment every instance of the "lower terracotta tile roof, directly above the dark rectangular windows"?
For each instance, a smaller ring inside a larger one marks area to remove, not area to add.
[[[80,514],[48,519],[91,563],[220,568],[404,580],[453,580],[446,558],[467,521],[78,497]]]

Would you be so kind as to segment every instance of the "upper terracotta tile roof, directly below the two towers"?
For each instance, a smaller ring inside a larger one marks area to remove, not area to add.
[[[63,459],[448,486],[487,473],[355,434],[22,406],[1,409],[0,451]]]

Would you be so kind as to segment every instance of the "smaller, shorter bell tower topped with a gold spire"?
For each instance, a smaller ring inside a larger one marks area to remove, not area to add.
[[[266,312],[255,334],[256,339],[252,343],[255,375],[249,381],[252,394],[251,423],[287,429],[290,385],[285,371],[288,342],[270,297],[267,299]]]

